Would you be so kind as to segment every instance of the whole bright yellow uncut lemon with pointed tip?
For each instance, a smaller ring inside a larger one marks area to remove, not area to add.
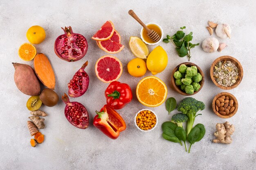
[[[168,63],[166,51],[161,46],[157,46],[150,52],[147,59],[147,68],[153,74],[162,72]]]

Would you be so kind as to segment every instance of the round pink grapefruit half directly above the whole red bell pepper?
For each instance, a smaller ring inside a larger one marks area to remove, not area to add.
[[[102,56],[95,64],[95,73],[104,83],[116,81],[122,72],[123,66],[121,61],[111,55]]]

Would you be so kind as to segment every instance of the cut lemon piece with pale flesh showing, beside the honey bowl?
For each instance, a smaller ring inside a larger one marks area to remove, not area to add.
[[[130,37],[129,41],[130,49],[132,53],[140,58],[146,59],[148,56],[148,47],[139,37]]]

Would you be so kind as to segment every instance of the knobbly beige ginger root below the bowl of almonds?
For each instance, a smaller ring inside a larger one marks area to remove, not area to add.
[[[214,133],[214,136],[217,137],[217,139],[213,139],[213,143],[222,143],[222,144],[231,144],[232,138],[231,135],[233,135],[235,131],[235,126],[233,124],[229,124],[229,122],[223,123],[217,123],[216,124],[216,132]]]

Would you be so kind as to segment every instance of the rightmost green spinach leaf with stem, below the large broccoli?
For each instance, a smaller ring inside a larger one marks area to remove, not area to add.
[[[193,129],[190,131],[187,139],[190,143],[189,146],[189,153],[190,153],[190,149],[191,146],[195,143],[195,142],[199,142],[205,134],[205,128],[203,124],[197,124],[195,125],[195,127],[193,127]]]

